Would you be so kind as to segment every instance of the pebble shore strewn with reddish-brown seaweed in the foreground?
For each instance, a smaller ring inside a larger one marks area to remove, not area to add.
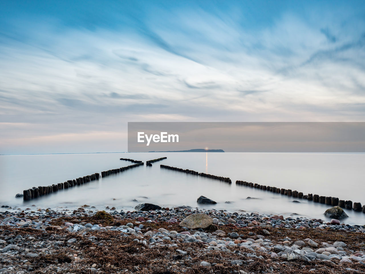
[[[211,223],[181,227],[188,216]],[[87,205],[72,213],[1,210],[0,239],[0,273],[365,271],[364,225],[184,206],[112,213]]]

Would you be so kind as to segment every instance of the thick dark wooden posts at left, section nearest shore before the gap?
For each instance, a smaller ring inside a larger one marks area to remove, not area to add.
[[[51,186],[39,186],[39,187],[32,187],[31,189],[23,190],[23,199],[25,201],[38,198],[43,195],[48,195],[53,192],[57,192],[58,190],[68,189],[73,186],[79,186],[81,184],[86,184],[93,180],[99,180],[100,175],[99,173],[91,174],[84,177],[79,177],[74,180],[68,180],[64,183],[52,184]]]

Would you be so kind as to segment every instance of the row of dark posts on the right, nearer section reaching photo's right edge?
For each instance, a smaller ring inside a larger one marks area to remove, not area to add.
[[[348,200],[348,201],[340,200],[337,197],[319,196],[318,194],[312,194],[312,193],[309,193],[308,195],[304,195],[303,192],[298,192],[296,190],[292,191],[291,189],[280,189],[280,188],[274,187],[274,186],[264,186],[261,184],[249,183],[246,181],[237,180],[236,184],[242,185],[242,186],[253,187],[255,189],[261,189],[264,191],[280,193],[281,195],[287,195],[287,196],[291,196],[293,198],[307,199],[308,201],[313,201],[315,203],[323,203],[325,205],[330,205],[330,206],[340,206],[341,208],[345,208],[345,209],[349,209],[349,210],[352,209],[355,211],[362,211],[365,213],[365,205],[361,206],[361,203],[358,203],[358,202],[353,203],[350,200]]]

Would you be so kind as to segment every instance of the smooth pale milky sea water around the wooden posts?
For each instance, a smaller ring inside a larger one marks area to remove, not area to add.
[[[58,191],[24,202],[16,193],[33,186],[65,182],[85,175],[119,168],[134,160],[168,159],[108,176],[86,185]],[[104,209],[131,210],[142,202],[164,207],[189,205],[198,208],[226,209],[229,212],[246,210],[270,214],[298,214],[303,217],[326,219],[323,212],[329,206],[267,191],[236,186],[236,180],[276,186],[324,196],[350,199],[365,203],[365,154],[320,153],[101,153],[67,155],[0,156],[0,205],[25,209],[74,209],[88,204]],[[218,180],[200,178],[181,172],[160,169],[160,164],[188,168],[217,176],[230,177],[229,185]],[[204,195],[218,202],[198,205],[196,199]],[[246,199],[247,197],[257,199]],[[137,199],[138,202],[132,201]],[[225,203],[231,201],[231,203]],[[365,224],[365,214],[346,210],[349,224]]]

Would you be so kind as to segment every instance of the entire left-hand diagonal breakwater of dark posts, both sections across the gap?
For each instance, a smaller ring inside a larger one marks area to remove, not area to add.
[[[101,172],[101,177],[106,177],[111,174],[123,172],[124,170],[138,167],[140,165],[143,165],[143,162],[137,163],[134,165],[128,165],[127,167],[121,167],[121,168],[117,168],[117,169],[113,169],[113,170],[103,171],[103,172]],[[35,199],[35,198],[38,198],[43,195],[48,195],[50,193],[57,192],[62,189],[69,189],[74,186],[80,186],[81,184],[87,184],[93,180],[99,180],[99,178],[100,178],[100,174],[95,173],[95,174],[79,177],[77,179],[68,180],[64,183],[52,184],[51,186],[32,187],[31,189],[23,190],[23,199],[25,201],[28,201],[28,200]]]

